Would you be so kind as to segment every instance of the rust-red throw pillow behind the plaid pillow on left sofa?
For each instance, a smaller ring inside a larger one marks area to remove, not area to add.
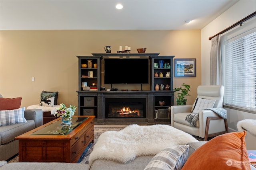
[[[0,98],[0,110],[19,109],[21,98]]]

